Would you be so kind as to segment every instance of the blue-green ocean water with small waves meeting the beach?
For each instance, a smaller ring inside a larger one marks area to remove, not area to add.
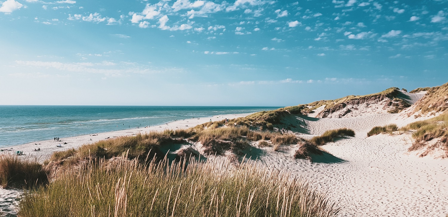
[[[0,105],[0,147],[279,107]]]

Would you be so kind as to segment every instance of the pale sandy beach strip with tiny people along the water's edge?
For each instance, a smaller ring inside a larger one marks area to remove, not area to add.
[[[34,141],[21,145],[1,147],[3,151],[1,151],[0,153],[15,153],[15,151],[23,151],[23,154],[25,156],[31,156],[31,155],[36,156],[40,162],[43,162],[45,159],[49,158],[55,151],[78,148],[79,146],[82,146],[84,144],[91,144],[108,138],[116,138],[120,136],[132,136],[139,133],[145,134],[151,131],[163,131],[165,129],[188,129],[196,125],[206,123],[210,121],[210,119],[211,121],[220,121],[225,118],[233,119],[237,117],[246,117],[247,115],[250,114],[252,113],[225,114],[225,115],[221,114],[212,117],[199,117],[199,118],[171,121],[164,123],[162,125],[155,125],[150,127],[121,129],[115,131],[108,131],[104,133],[92,133],[72,137],[65,137],[60,138],[59,141],[54,141],[54,139]],[[64,144],[65,142],[67,144]],[[57,147],[57,145],[61,145],[62,147]],[[34,149],[38,148],[40,148],[39,151],[34,151]]]

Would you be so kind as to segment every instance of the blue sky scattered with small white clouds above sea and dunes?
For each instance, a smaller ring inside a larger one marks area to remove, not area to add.
[[[288,106],[448,82],[448,0],[0,0],[0,104]]]

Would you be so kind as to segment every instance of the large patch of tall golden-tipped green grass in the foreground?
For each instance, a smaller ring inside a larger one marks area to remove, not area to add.
[[[303,178],[253,161],[87,161],[26,191],[21,217],[332,217],[335,203]]]

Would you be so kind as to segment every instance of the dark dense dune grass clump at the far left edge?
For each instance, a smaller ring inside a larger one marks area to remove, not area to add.
[[[3,188],[32,188],[47,182],[47,171],[37,157],[0,154],[0,185]]]

